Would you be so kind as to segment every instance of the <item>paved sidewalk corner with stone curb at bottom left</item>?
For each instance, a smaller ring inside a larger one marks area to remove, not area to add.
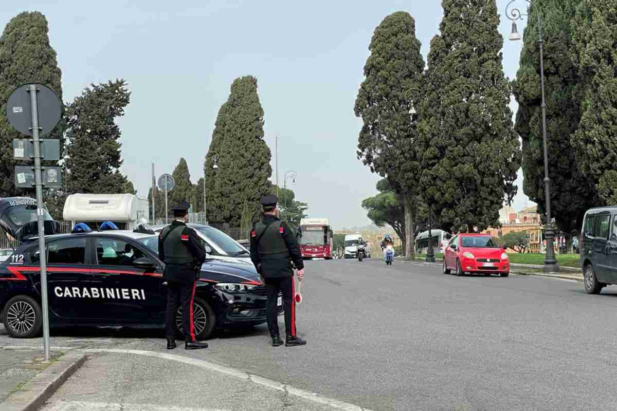
[[[83,354],[0,348],[0,409],[36,410],[85,360]]]

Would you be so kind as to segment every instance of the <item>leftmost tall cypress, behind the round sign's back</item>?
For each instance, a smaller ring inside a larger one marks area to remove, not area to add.
[[[62,101],[62,73],[56,52],[49,44],[47,19],[40,12],[23,12],[12,18],[0,36],[0,193],[19,195],[15,188],[12,140],[24,138],[6,118],[6,102],[15,88],[40,83]],[[64,146],[64,121],[45,137],[60,139]],[[50,164],[50,162],[46,162]],[[55,162],[54,162],[55,163]],[[48,190],[45,190],[48,192]],[[44,192],[44,193],[45,193]]]

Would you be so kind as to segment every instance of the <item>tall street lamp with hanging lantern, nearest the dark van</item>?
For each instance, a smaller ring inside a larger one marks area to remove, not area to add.
[[[505,15],[512,21],[512,31],[510,34],[511,41],[517,41],[521,39],[521,35],[518,33],[516,27],[516,20],[523,20],[523,16],[529,17],[528,14],[522,14],[521,10],[512,8],[510,6],[516,0],[510,0],[507,6],[505,6]],[[529,4],[532,4],[531,0],[524,0]],[[544,196],[546,201],[546,229],[544,230],[546,238],[546,257],[544,259],[544,272],[558,272],[559,264],[555,258],[555,250],[553,248],[553,238],[555,238],[555,230],[553,229],[553,221],[550,217],[550,177],[549,177],[549,152],[547,149],[547,136],[546,136],[546,100],[544,96],[544,38],[542,37],[542,19],[540,17],[540,11],[537,12],[538,16],[538,31],[540,33],[540,39],[538,41],[540,45],[540,87],[542,89],[542,140],[544,142]]]

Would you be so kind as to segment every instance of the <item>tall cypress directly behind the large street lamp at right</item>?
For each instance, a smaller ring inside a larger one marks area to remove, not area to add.
[[[545,213],[544,146],[542,140],[542,96],[537,17],[542,18],[544,76],[547,103],[547,136],[551,210],[557,226],[569,236],[580,228],[585,210],[594,204],[595,187],[576,165],[570,136],[580,120],[581,81],[571,59],[573,22],[571,16],[581,0],[544,0],[529,7],[521,65],[512,82],[518,101],[515,130],[523,140],[523,190]]]

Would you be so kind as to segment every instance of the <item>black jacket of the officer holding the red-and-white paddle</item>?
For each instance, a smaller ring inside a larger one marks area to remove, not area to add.
[[[263,214],[263,224],[270,224],[271,222],[280,221],[276,216],[272,214]],[[251,261],[255,264],[255,268],[259,269],[261,264],[261,274],[266,278],[280,278],[291,277],[294,271],[291,267],[289,259],[294,262],[297,269],[304,269],[304,261],[302,261],[302,253],[300,252],[300,246],[296,241],[296,236],[293,234],[289,226],[285,222],[281,222],[281,228],[283,229],[283,240],[289,249],[289,258],[277,258],[277,259],[262,259],[259,253],[257,253],[257,237],[255,234],[255,224],[251,229]],[[262,243],[260,243],[263,246]]]

